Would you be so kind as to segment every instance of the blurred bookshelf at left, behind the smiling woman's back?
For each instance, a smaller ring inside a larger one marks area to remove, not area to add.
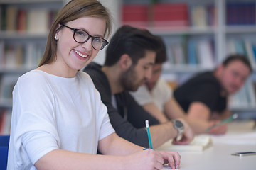
[[[37,67],[50,25],[66,2],[0,1],[0,135],[9,134],[14,84],[21,74]]]

